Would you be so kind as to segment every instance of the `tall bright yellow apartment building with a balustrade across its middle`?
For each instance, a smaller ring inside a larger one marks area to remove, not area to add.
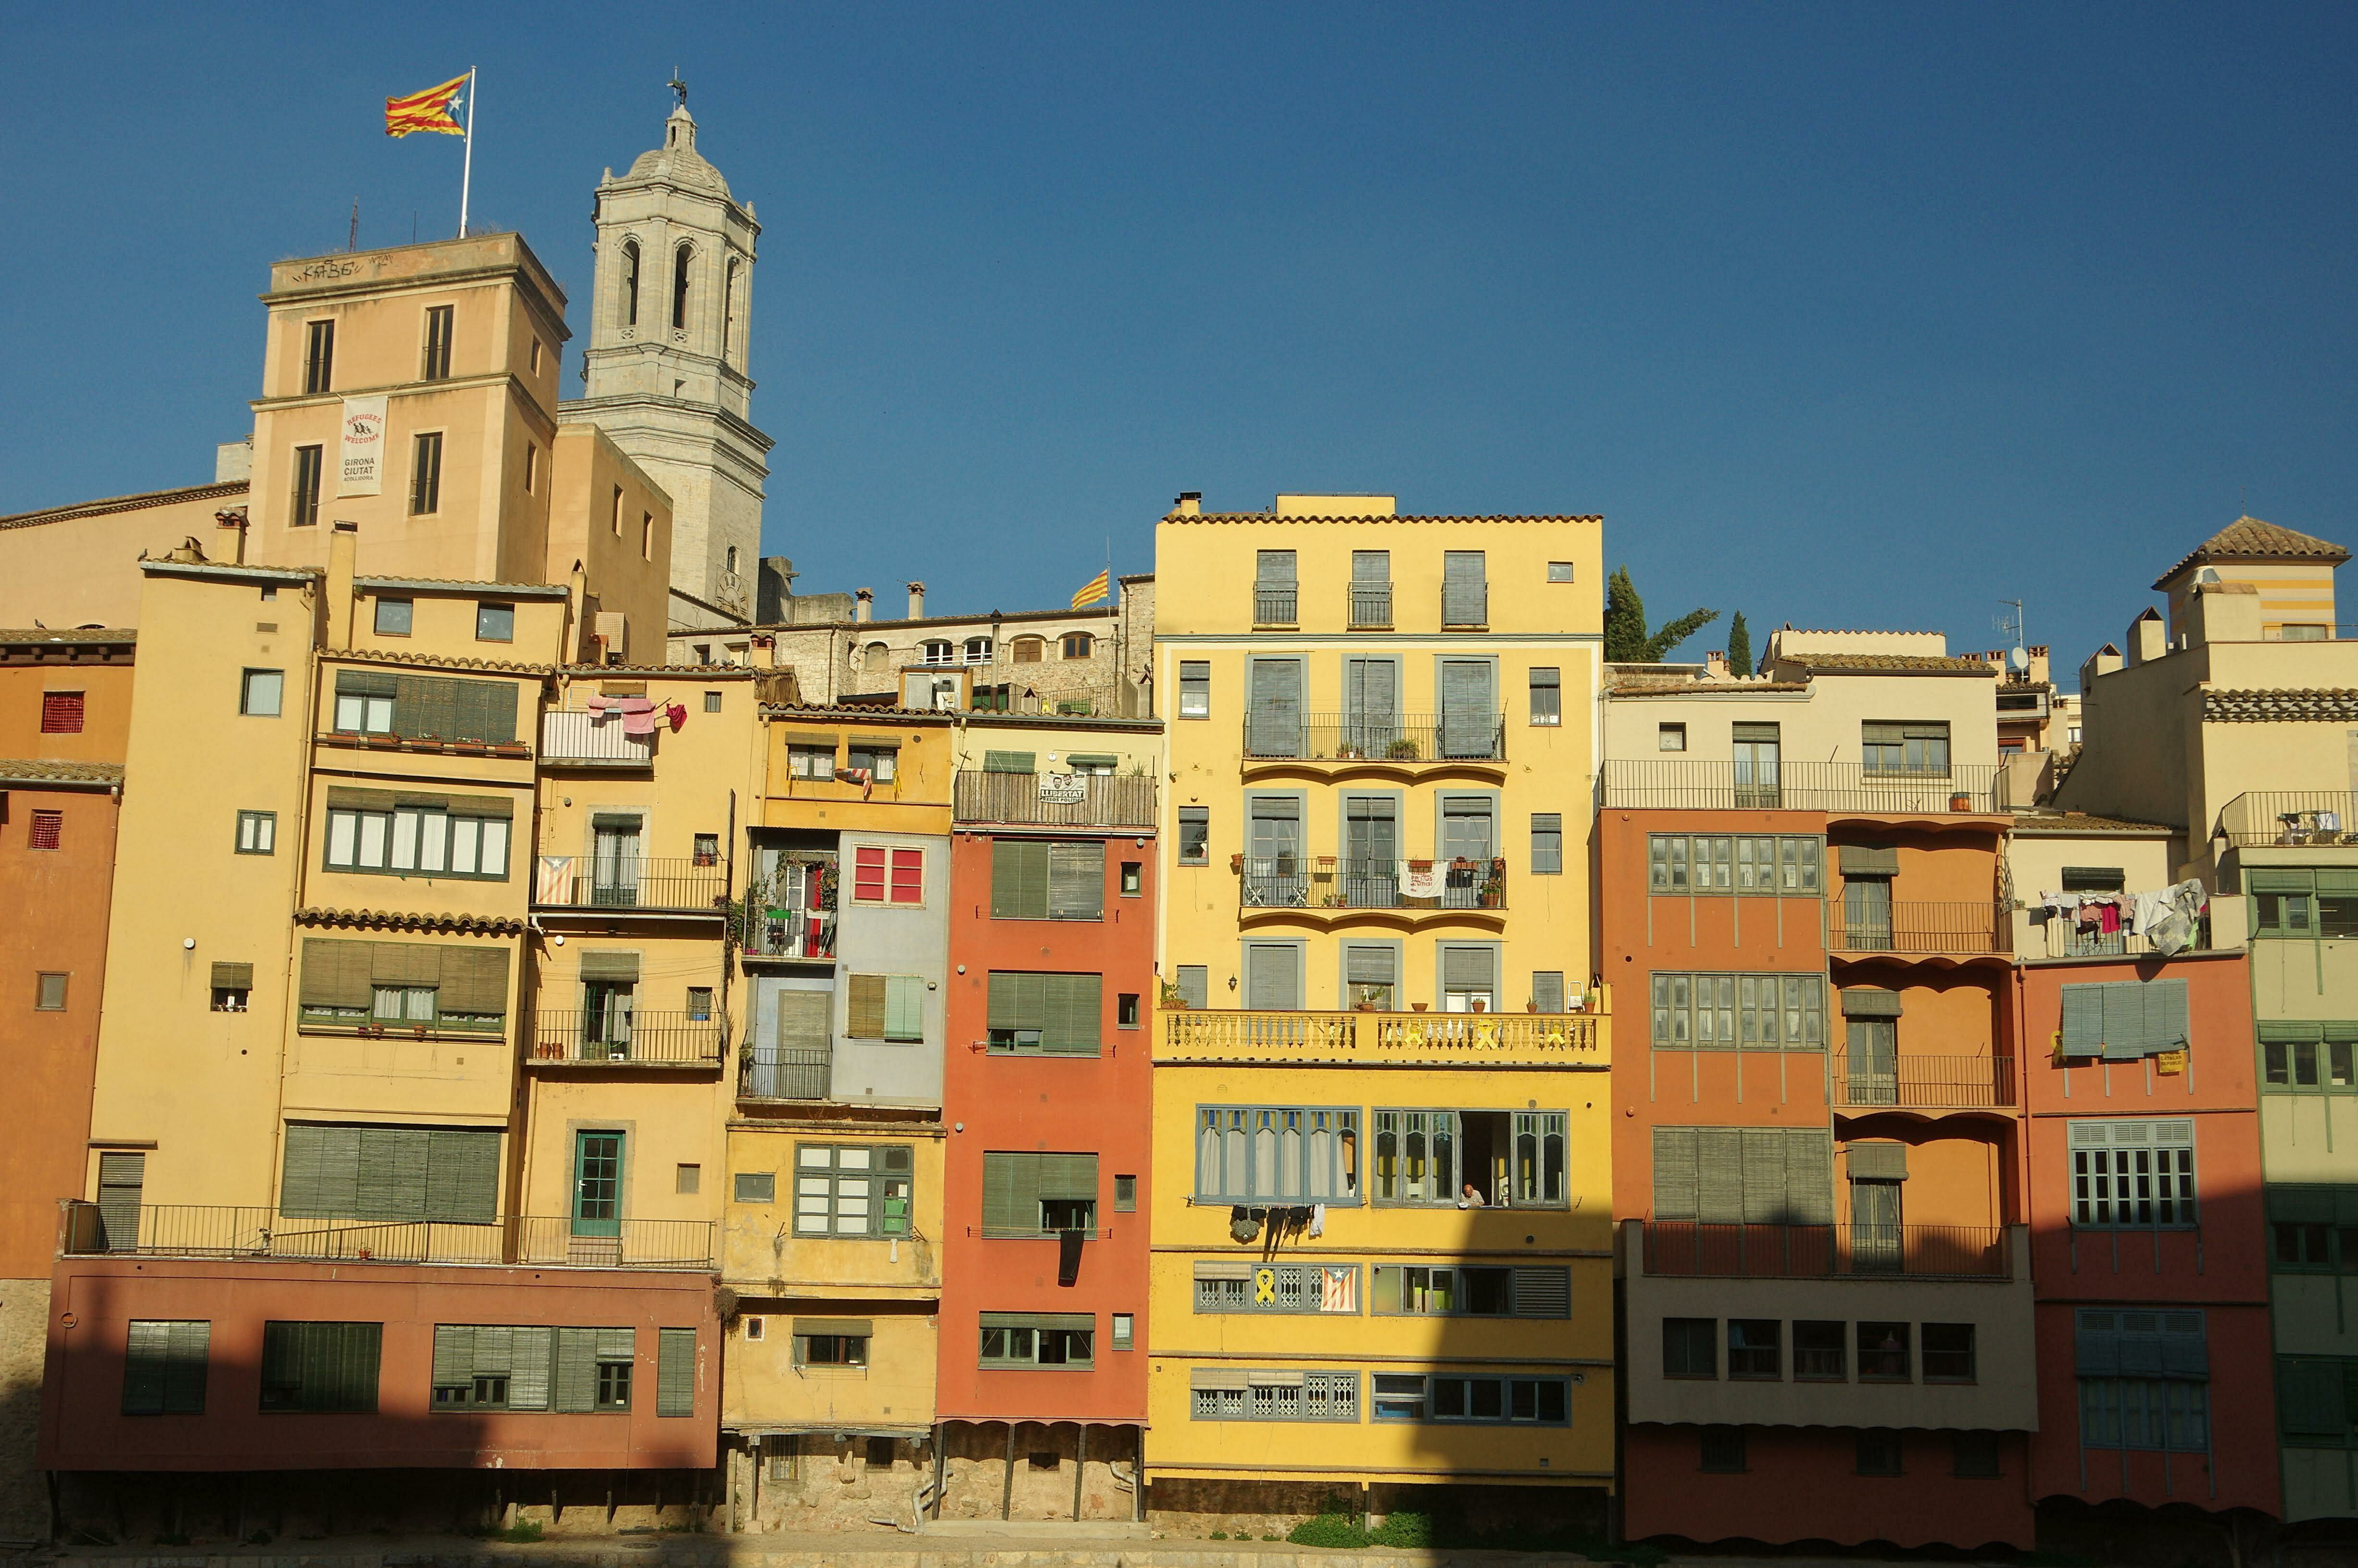
[[[1613,1485],[1599,540],[1158,523],[1155,1507]]]

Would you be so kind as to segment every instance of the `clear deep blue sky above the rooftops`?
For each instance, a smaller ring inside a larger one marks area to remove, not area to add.
[[[1655,620],[1983,648],[2018,597],[2068,679],[2240,509],[2358,545],[2349,5],[7,0],[0,45],[0,512],[210,479],[266,264],[354,198],[453,231],[455,139],[382,99],[467,66],[474,219],[580,330],[677,64],[764,224],[806,592],[1038,606],[1179,490],[1391,490],[1601,512]]]

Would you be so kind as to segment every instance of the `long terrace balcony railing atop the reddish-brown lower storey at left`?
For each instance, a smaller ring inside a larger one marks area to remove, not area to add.
[[[141,1205],[132,1233],[123,1219],[80,1198],[64,1205],[66,1257],[219,1257],[349,1264],[531,1264],[535,1269],[712,1269],[714,1226],[705,1219],[606,1221],[606,1236],[578,1236],[566,1217],[512,1217],[488,1224],[292,1219],[269,1207]]]

